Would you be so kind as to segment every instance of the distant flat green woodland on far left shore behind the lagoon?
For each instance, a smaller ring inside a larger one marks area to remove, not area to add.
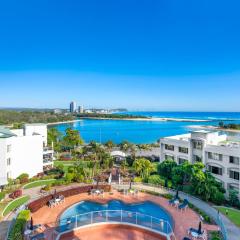
[[[52,123],[74,120],[72,115],[55,114],[50,111],[13,111],[0,110],[0,125],[13,124],[14,128],[22,127],[23,123]]]

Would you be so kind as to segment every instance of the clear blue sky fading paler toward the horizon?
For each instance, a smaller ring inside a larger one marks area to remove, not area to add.
[[[1,1],[0,106],[240,111],[237,0]]]

